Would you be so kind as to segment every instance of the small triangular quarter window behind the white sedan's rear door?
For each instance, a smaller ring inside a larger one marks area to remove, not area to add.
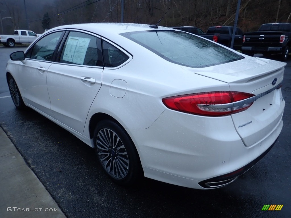
[[[118,67],[129,59],[124,52],[104,40],[103,53],[105,67]]]

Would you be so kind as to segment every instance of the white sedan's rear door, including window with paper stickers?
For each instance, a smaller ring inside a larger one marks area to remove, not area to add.
[[[47,74],[51,109],[58,121],[83,133],[102,83],[101,39],[92,33],[70,31],[58,56],[59,62]]]

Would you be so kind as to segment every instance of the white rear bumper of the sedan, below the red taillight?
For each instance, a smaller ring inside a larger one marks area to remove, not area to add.
[[[140,154],[145,177],[209,189],[227,185],[258,162],[282,127],[281,117],[264,138],[246,147],[230,116],[201,117],[166,109],[149,128],[127,131]]]

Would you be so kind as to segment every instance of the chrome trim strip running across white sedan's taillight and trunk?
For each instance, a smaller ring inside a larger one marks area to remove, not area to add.
[[[232,103],[227,103],[227,104],[197,104],[197,106],[202,107],[202,108],[218,108],[218,109],[222,109],[222,108],[234,108],[234,107],[242,107],[246,104],[249,103],[253,103],[254,101],[256,101],[257,99],[273,92],[276,89],[279,89],[282,86],[282,83],[276,85],[275,87],[273,87],[272,89],[266,91],[266,92],[262,92],[261,94],[257,94],[253,97],[250,97],[248,99],[244,99],[241,101],[236,101],[236,102],[232,102]]]

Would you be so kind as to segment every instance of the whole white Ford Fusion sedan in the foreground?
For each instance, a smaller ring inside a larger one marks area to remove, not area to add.
[[[30,107],[95,148],[104,171],[196,189],[233,182],[275,144],[286,63],[183,31],[76,24],[10,55],[16,108]]]

